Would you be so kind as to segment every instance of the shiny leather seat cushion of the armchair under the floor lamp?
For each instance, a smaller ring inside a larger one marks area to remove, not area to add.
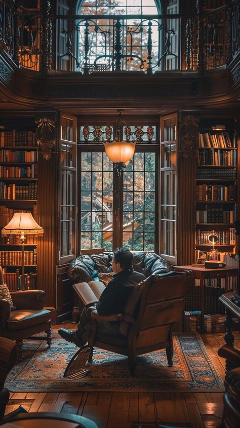
[[[11,312],[8,320],[8,330],[16,331],[45,323],[50,320],[51,311],[47,309],[24,309]]]

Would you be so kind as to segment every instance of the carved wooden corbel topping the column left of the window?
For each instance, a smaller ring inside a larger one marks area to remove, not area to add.
[[[56,152],[56,116],[41,115],[35,119],[37,125],[36,137],[39,153],[48,161]]]

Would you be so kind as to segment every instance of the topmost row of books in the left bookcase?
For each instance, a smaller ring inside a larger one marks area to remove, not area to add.
[[[12,131],[0,132],[1,147],[36,146],[36,134],[33,131]]]

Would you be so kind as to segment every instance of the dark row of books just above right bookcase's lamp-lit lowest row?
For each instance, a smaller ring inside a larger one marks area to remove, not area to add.
[[[206,205],[196,210],[197,223],[234,223],[235,211],[226,210],[222,205]]]

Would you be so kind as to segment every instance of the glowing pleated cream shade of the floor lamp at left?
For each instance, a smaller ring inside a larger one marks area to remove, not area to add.
[[[2,235],[43,235],[44,229],[39,226],[31,213],[15,213],[10,222],[2,229]]]

